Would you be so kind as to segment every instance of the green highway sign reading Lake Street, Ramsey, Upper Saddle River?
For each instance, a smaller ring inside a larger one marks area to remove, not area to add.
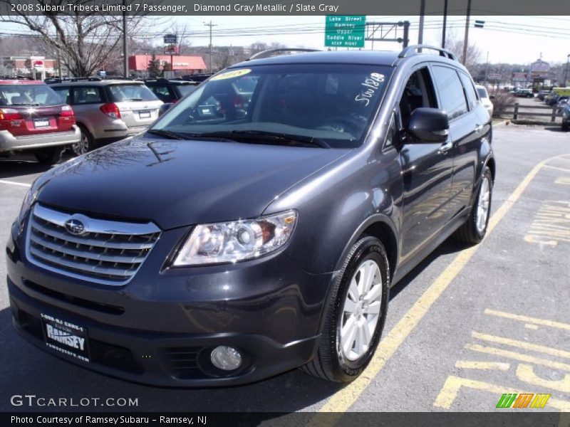
[[[366,15],[328,15],[325,21],[325,46],[363,48]]]

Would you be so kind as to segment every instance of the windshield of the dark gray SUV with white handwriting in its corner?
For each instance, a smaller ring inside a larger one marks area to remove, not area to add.
[[[390,73],[385,66],[346,64],[225,70],[178,102],[152,130],[187,138],[271,133],[318,139],[331,148],[358,147]]]

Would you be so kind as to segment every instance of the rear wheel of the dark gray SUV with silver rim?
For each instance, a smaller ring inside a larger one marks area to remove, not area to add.
[[[485,182],[487,184],[485,184]],[[486,186],[487,185],[487,186]],[[486,191],[488,189],[488,191]],[[484,193],[488,193],[485,197]],[[485,233],[487,233],[487,226],[489,224],[489,212],[491,211],[491,201],[493,194],[493,177],[491,170],[484,167],[481,174],[481,183],[477,191],[477,197],[471,206],[471,212],[467,221],[455,231],[455,238],[463,243],[470,243],[475,245],[483,240]],[[486,209],[484,209],[486,205]],[[482,210],[481,210],[482,209]],[[480,216],[484,215],[484,218]]]

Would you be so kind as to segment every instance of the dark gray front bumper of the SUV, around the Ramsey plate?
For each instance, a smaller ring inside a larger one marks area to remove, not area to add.
[[[187,233],[177,229],[162,232],[130,283],[93,285],[28,263],[18,232],[14,226],[6,248],[14,326],[68,362],[143,384],[222,386],[280,374],[314,355],[332,273],[304,273],[283,253],[163,269]],[[86,327],[90,362],[46,346],[42,313]],[[218,345],[239,349],[242,366],[229,373],[213,367],[209,354]]]

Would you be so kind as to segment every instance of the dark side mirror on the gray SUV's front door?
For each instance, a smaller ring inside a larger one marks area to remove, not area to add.
[[[416,108],[410,115],[406,130],[421,142],[445,142],[450,133],[450,121],[447,112],[437,108]]]

